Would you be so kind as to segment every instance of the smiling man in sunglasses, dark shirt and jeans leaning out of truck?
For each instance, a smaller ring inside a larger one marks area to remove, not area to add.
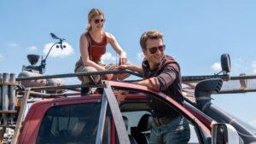
[[[140,44],[145,55],[142,66],[121,65],[119,68],[142,73],[144,79],[136,84],[162,91],[183,105],[180,67],[172,56],[165,55],[163,35],[158,31],[144,32]],[[149,142],[151,144],[188,143],[190,130],[187,120],[154,96],[150,96],[149,99],[154,117]]]

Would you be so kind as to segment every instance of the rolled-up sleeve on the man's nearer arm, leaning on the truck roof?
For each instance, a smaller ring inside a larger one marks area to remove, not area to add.
[[[157,81],[155,84],[157,84],[155,86],[155,89],[157,91],[163,91],[166,90],[174,81],[175,79],[178,77],[178,72],[179,72],[179,68],[177,66],[177,64],[168,64],[167,66],[164,67],[163,71],[160,73],[160,75],[158,75],[157,77],[155,77]]]

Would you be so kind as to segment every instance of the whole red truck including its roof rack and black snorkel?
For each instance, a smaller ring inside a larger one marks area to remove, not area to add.
[[[106,74],[129,71],[87,72],[31,78],[16,78],[17,81],[42,78],[69,78],[82,75]],[[134,74],[134,72],[130,72]],[[195,86],[195,97],[185,96],[184,105],[171,97],[147,87],[129,82],[102,81],[92,85],[62,85],[17,89],[23,95],[19,116],[15,123],[12,143],[17,144],[128,144],[148,143],[150,126],[153,123],[148,100],[159,101],[187,118],[190,124],[189,143],[255,143],[256,136],[242,124],[218,109],[211,102],[212,93],[219,93],[221,78],[227,75],[202,76]],[[191,78],[190,78],[191,81]],[[183,82],[190,82],[183,77]],[[188,84],[187,83],[187,84]],[[191,83],[189,83],[191,85]],[[80,96],[80,88],[102,88],[102,94]],[[192,86],[190,86],[192,87]],[[62,94],[45,94],[35,91],[68,89]],[[186,90],[186,89],[184,89]],[[79,92],[78,92],[79,91]],[[187,94],[188,91],[184,91]],[[29,97],[47,98],[32,104],[23,121]],[[191,129],[192,128],[192,129]]]

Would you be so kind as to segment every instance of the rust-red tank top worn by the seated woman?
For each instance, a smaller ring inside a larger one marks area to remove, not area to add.
[[[96,62],[101,61],[102,55],[104,55],[106,53],[106,46],[107,46],[106,33],[103,32],[102,42],[100,42],[100,43],[97,43],[96,41],[94,41],[93,38],[90,36],[89,32],[85,33],[85,37],[87,38],[87,41],[89,42],[88,52],[89,52],[90,60],[93,60]]]

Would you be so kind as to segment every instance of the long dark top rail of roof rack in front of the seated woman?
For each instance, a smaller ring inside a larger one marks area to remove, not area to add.
[[[137,72],[132,72],[128,70],[108,70],[108,71],[99,71],[99,72],[77,72],[77,73],[67,73],[67,74],[56,74],[56,75],[48,75],[48,76],[38,76],[38,77],[24,77],[24,78],[16,78],[16,81],[25,81],[25,80],[35,80],[35,79],[48,79],[48,78],[70,78],[70,77],[79,77],[79,76],[91,76],[91,75],[102,75],[109,73],[130,73],[137,77],[142,77],[141,74]]]

